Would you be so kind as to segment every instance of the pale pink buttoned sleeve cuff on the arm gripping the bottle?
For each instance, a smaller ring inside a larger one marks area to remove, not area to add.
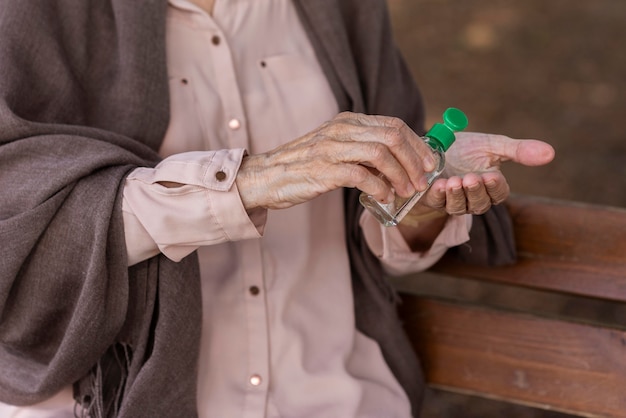
[[[129,264],[150,246],[180,261],[203,245],[259,238],[267,211],[251,217],[241,202],[235,179],[243,155],[243,149],[186,152],[133,170],[122,207]]]

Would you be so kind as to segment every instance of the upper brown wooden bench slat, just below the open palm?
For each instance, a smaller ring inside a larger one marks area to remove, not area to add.
[[[531,196],[506,203],[519,262],[484,267],[444,257],[432,270],[626,301],[626,210]]]

